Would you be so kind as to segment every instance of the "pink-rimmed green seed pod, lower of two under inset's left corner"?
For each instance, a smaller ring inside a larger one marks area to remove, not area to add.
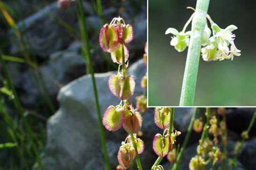
[[[153,139],[153,150],[159,157],[164,157],[172,148],[171,138],[168,135],[156,134]]]

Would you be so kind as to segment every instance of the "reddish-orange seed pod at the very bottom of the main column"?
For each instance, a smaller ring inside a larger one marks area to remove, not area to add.
[[[124,168],[130,168],[130,164],[135,158],[135,149],[129,144],[124,144],[120,147],[117,155],[118,163]]]

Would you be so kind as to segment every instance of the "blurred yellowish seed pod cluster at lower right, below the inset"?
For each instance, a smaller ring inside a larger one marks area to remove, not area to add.
[[[219,116],[222,116],[222,120],[219,120],[217,113]],[[214,166],[218,161],[223,162],[226,159],[226,150],[221,151],[218,146],[219,138],[221,138],[223,147],[227,146],[227,126],[225,113],[225,109],[219,108],[217,109],[217,112],[213,111],[210,115],[208,115],[209,125],[205,125],[206,133],[208,135],[206,138],[199,140],[197,155],[192,157],[189,163],[190,170],[205,170],[207,164],[212,163],[212,166]],[[202,118],[194,121],[193,129],[198,133],[202,131]],[[213,138],[210,135],[213,136]]]

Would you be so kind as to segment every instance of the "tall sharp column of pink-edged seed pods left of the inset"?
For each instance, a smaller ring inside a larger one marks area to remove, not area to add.
[[[132,26],[125,24],[120,17],[114,18],[110,24],[105,24],[100,30],[100,47],[103,51],[111,53],[112,61],[119,64],[117,75],[109,77],[108,87],[112,94],[121,100],[118,105],[111,105],[106,109],[102,120],[103,125],[109,131],[116,131],[123,127],[128,133],[118,152],[120,164],[118,169],[128,169],[135,155],[141,154],[144,150],[144,142],[136,135],[142,128],[142,116],[129,101],[135,91],[135,80],[132,75],[127,75],[129,51],[125,45],[132,40]]]

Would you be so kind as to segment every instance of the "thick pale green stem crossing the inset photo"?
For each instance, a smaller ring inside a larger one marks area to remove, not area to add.
[[[195,15],[192,20],[192,32],[189,42],[185,73],[180,96],[180,106],[193,106],[199,68],[199,56],[202,37],[206,25],[206,14],[210,0],[197,0]]]

